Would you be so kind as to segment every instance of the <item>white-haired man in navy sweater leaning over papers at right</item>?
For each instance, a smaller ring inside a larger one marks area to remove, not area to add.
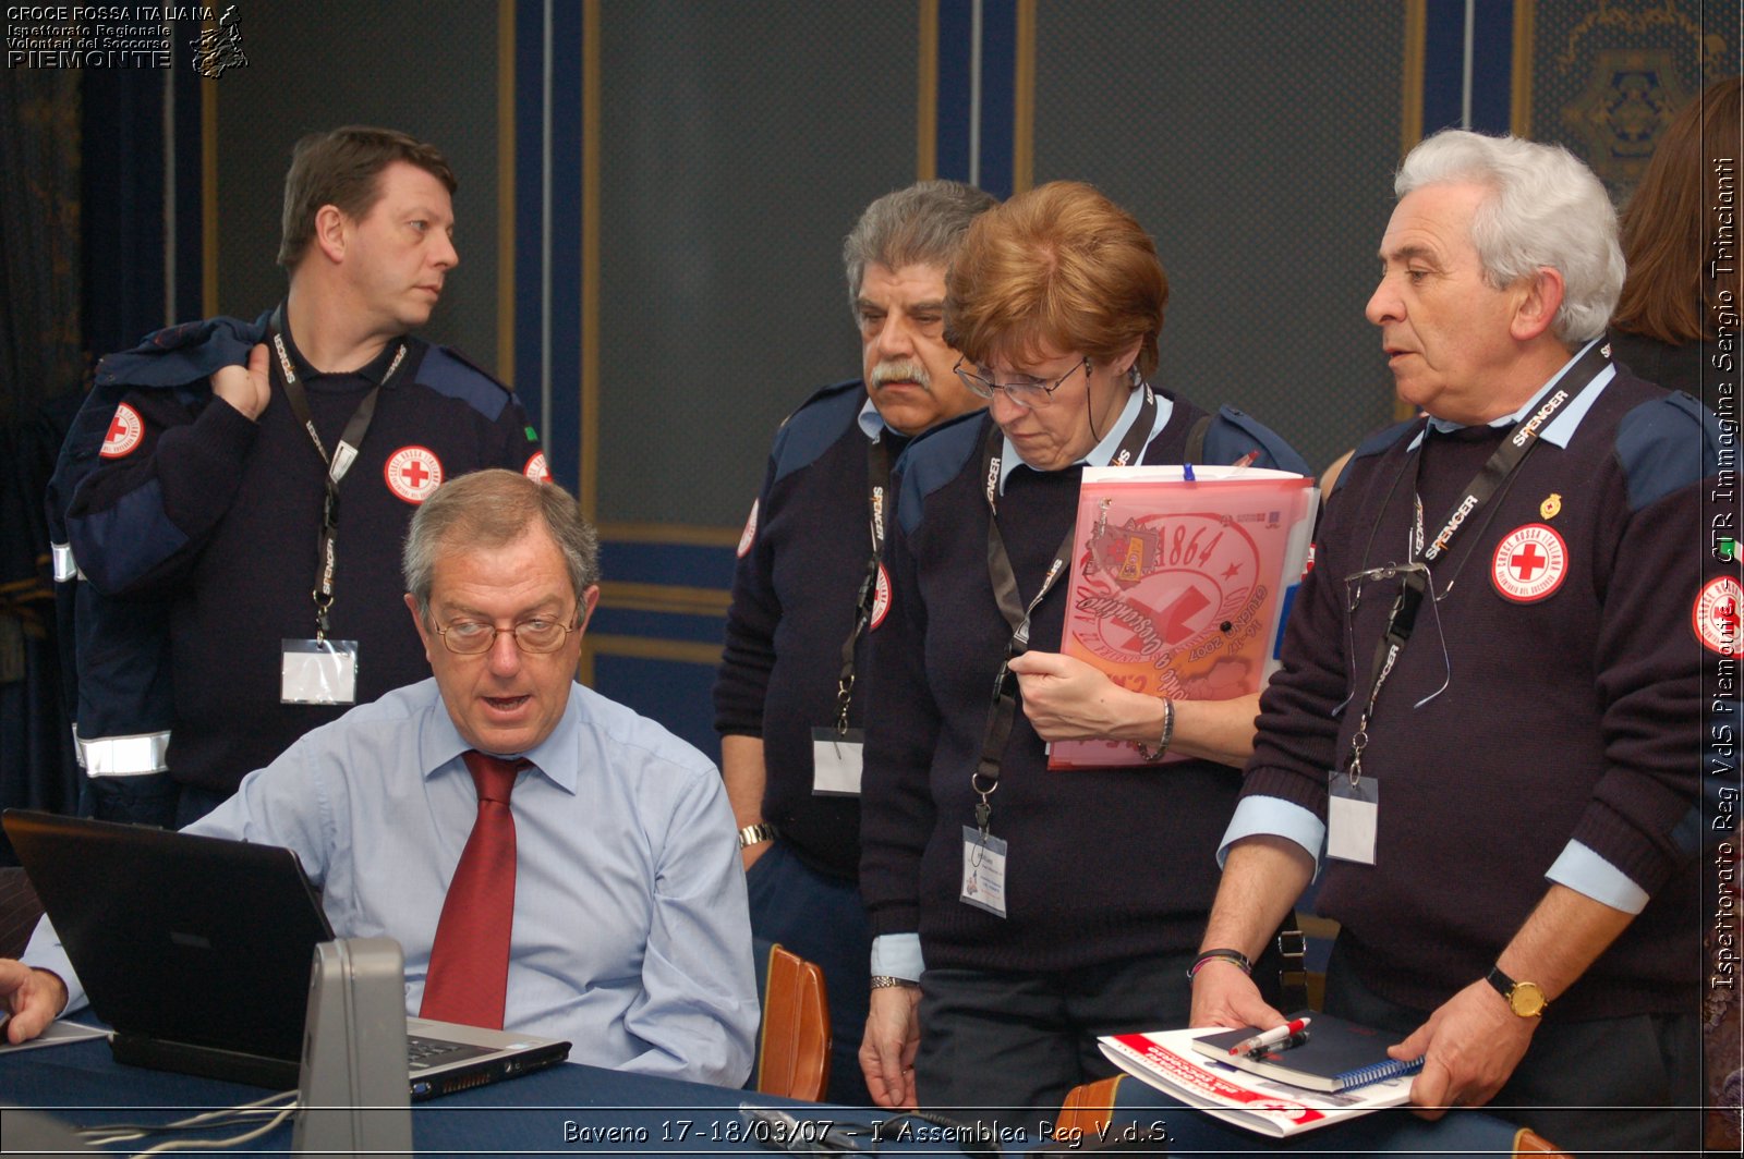
[[[1427,415],[1325,507],[1191,1025],[1278,1025],[1238,955],[1318,868],[1325,1009],[1425,1058],[1427,1117],[1695,1152],[1702,692],[1744,650],[1720,430],[1611,361],[1617,214],[1566,150],[1444,131],[1393,190],[1367,317]]]

